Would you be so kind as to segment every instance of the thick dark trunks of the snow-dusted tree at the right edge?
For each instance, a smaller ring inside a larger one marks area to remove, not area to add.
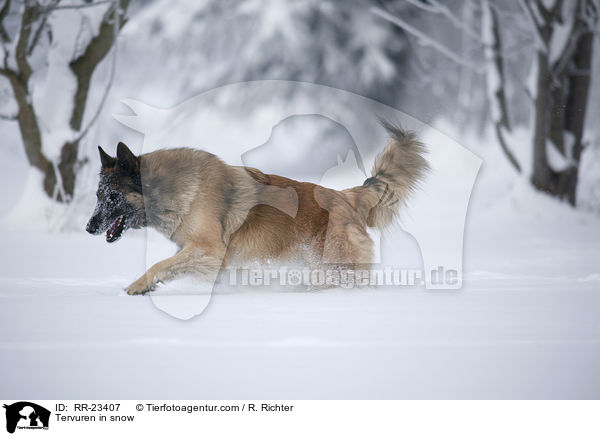
[[[531,182],[574,205],[600,3],[522,3],[536,41]]]

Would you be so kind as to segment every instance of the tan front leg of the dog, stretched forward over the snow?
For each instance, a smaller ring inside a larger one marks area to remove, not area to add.
[[[129,295],[145,294],[153,290],[158,283],[187,274],[210,278],[219,272],[222,260],[221,253],[209,256],[198,247],[184,247],[174,256],[153,265],[143,276],[129,285],[126,291]]]

